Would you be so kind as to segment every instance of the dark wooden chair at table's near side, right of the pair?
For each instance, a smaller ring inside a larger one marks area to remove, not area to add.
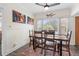
[[[56,52],[56,42],[54,41],[55,31],[45,31],[45,42],[44,42],[44,55],[47,50],[53,51],[53,55]]]

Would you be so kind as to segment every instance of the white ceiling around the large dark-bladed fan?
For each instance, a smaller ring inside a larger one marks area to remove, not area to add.
[[[55,11],[55,10],[61,10],[61,9],[65,9],[65,8],[71,8],[73,6],[74,3],[61,3],[60,5],[57,6],[52,6],[49,7],[48,11]],[[21,5],[21,4],[19,4]],[[24,5],[24,8],[26,7],[27,10],[29,10],[32,14],[35,13],[41,13],[41,12],[46,12],[44,7],[42,6],[38,6],[34,3],[23,3],[22,6]]]

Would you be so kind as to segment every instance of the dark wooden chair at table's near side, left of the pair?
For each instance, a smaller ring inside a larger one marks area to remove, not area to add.
[[[42,31],[34,31],[34,38],[33,38],[33,42],[34,42],[34,51],[36,51],[36,48],[41,48],[41,53],[43,53],[43,35],[42,35]]]

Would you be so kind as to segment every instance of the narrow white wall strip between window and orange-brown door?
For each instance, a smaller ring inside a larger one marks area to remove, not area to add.
[[[68,29],[72,31],[72,37],[71,37],[71,45],[75,45],[75,18],[70,17],[68,19]]]

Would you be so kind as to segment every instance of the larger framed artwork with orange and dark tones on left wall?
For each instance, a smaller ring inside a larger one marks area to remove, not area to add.
[[[26,23],[26,16],[22,15],[20,12],[17,12],[15,10],[12,11],[13,16],[13,22],[17,23]]]

